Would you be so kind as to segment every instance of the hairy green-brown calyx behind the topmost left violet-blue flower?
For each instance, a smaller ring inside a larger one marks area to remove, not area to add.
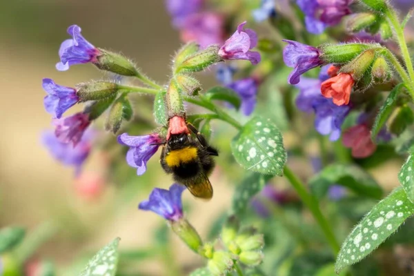
[[[97,68],[114,72],[121,76],[139,76],[139,72],[137,68],[135,68],[134,63],[123,55],[101,48],[99,48],[99,51],[101,52],[101,55],[97,57],[97,62],[94,63]]]

